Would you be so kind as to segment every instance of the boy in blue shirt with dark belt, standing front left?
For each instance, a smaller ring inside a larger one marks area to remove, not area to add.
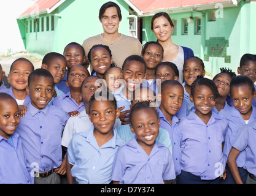
[[[48,105],[53,96],[53,77],[48,70],[36,69],[28,77],[26,91],[31,97],[25,118],[17,127],[27,159],[28,171],[35,184],[60,183],[64,175],[61,134],[69,118],[68,113]]]

